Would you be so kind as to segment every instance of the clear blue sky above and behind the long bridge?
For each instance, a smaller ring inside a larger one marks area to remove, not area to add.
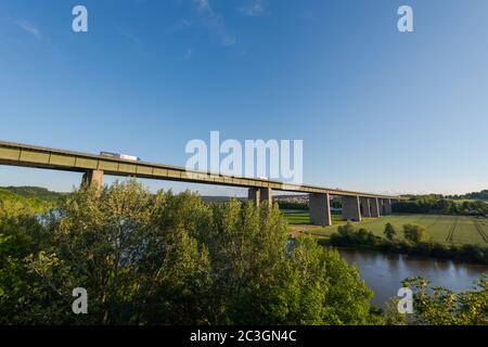
[[[487,189],[487,22],[486,0],[2,0],[0,139],[183,166],[219,130],[303,139],[311,184]],[[78,183],[0,167],[0,185]]]

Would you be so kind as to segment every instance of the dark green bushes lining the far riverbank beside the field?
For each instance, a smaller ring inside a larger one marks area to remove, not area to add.
[[[389,227],[385,226],[385,232],[387,230],[389,230]],[[488,247],[481,245],[435,243],[428,237],[423,227],[412,224],[403,226],[403,239],[395,237],[395,234],[391,239],[380,237],[364,228],[357,229],[354,224],[347,223],[338,227],[337,233],[333,233],[330,240],[324,240],[320,243],[488,265]]]

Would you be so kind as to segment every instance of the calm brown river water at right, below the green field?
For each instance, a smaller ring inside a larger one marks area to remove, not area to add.
[[[488,266],[415,258],[407,255],[388,255],[373,250],[339,248],[349,264],[355,264],[367,285],[374,292],[373,305],[383,304],[397,295],[401,281],[422,275],[434,285],[445,286],[453,292],[470,290],[481,273],[488,273]]]

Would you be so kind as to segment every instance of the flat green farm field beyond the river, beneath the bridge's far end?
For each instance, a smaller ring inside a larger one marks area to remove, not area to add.
[[[308,210],[283,210],[291,226],[310,224]],[[329,236],[337,231],[337,226],[345,223],[341,215],[332,215],[334,226],[325,228],[307,228],[307,232],[318,236]],[[363,218],[357,227],[365,228],[378,236],[383,236],[385,224],[389,222],[402,236],[402,226],[407,223],[425,227],[435,242],[457,244],[488,245],[488,218],[444,215],[388,215],[381,218]],[[296,229],[296,228],[295,228]]]

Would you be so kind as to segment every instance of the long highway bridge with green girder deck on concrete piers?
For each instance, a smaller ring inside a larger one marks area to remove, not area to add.
[[[134,162],[87,153],[56,150],[0,141],[0,165],[81,172],[82,183],[102,187],[103,175],[218,184],[248,189],[248,198],[255,204],[272,204],[272,191],[309,194],[310,221],[317,226],[331,226],[330,197],[339,196],[343,219],[361,221],[362,217],[380,217],[391,213],[391,205],[400,196],[352,192],[313,185],[190,171],[182,167]]]

